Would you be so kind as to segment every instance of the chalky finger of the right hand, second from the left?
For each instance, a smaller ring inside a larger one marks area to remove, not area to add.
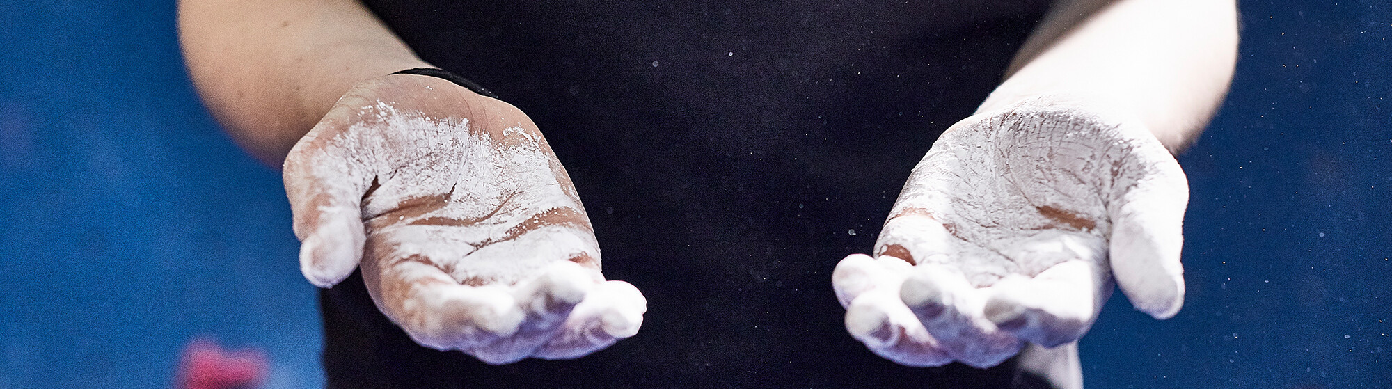
[[[899,301],[898,286],[859,295],[846,307],[846,332],[880,357],[909,367],[937,367],[952,361],[933,335]]]

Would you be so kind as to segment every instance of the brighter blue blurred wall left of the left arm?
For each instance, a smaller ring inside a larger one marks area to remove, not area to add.
[[[174,3],[0,8],[0,388],[168,388],[195,336],[322,386],[280,174],[203,110]]]

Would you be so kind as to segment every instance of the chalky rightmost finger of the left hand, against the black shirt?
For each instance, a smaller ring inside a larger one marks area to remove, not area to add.
[[[589,356],[638,335],[646,311],[647,299],[638,288],[622,281],[603,282],[571,310],[562,332],[533,356],[544,360]]]

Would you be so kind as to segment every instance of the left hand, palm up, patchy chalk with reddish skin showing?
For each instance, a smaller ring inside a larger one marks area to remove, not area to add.
[[[604,281],[589,217],[536,125],[448,81],[354,86],[285,158],[301,270],[361,265],[411,338],[490,364],[576,358],[633,336],[643,295]]]

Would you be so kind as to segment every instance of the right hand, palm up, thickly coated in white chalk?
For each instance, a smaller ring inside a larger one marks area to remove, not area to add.
[[[991,367],[1082,338],[1112,279],[1136,308],[1183,304],[1189,186],[1139,121],[1033,97],[966,118],[913,169],[876,257],[832,274],[846,329],[905,365]]]

